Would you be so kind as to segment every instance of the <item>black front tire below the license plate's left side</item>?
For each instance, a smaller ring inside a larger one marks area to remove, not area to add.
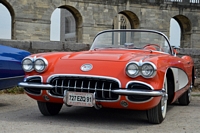
[[[41,102],[37,101],[38,108],[40,112],[44,116],[52,116],[52,115],[57,115],[61,108],[62,108],[62,103],[51,103],[51,102]]]

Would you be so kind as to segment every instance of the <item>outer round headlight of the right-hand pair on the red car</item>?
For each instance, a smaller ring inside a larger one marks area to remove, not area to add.
[[[142,69],[141,69],[141,73],[142,76],[145,78],[151,78],[155,75],[155,67],[149,63],[143,64],[142,65]]]

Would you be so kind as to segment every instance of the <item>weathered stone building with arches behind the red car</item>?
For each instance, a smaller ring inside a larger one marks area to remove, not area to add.
[[[63,19],[65,23],[75,21],[71,23],[74,29],[68,24],[64,31],[61,28],[61,41],[91,44],[99,31],[113,28],[155,29],[169,36],[170,20],[174,18],[181,27],[181,47],[200,47],[199,0],[0,0],[0,3],[11,14],[13,40],[49,41],[51,15],[60,8],[68,18]]]

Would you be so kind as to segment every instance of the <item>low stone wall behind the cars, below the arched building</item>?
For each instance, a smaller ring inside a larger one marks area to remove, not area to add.
[[[34,53],[52,52],[52,51],[84,51],[89,50],[90,44],[68,44],[59,41],[14,41],[14,40],[1,40],[0,44],[20,48]],[[178,51],[178,56],[189,55],[193,58],[196,69],[196,76],[200,78],[200,49],[181,48]]]

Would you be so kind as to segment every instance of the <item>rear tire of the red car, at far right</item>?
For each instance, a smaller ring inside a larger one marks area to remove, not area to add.
[[[187,106],[191,101],[191,89],[188,89],[183,95],[178,99],[180,105]]]

